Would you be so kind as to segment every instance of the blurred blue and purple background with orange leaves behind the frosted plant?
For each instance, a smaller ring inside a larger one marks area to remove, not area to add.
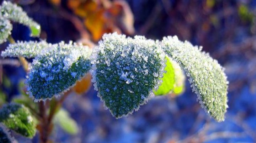
[[[0,0],[1,1],[1,0]],[[189,83],[182,95],[148,101],[133,115],[115,119],[103,107],[90,75],[63,104],[77,124],[71,133],[56,125],[53,142],[256,142],[256,0],[12,0],[41,24],[41,39],[69,40],[93,48],[104,33],[159,39],[177,35],[202,45],[225,67],[229,80],[224,122],[211,119],[196,101]],[[14,23],[15,40],[30,37]],[[1,51],[9,43],[0,45]],[[26,72],[17,59],[0,61],[0,105],[20,96]],[[19,142],[37,142],[15,135]]]

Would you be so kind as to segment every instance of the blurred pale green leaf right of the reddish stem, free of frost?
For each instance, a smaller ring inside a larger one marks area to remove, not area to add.
[[[70,118],[68,111],[65,109],[60,109],[58,111],[54,117],[54,122],[71,135],[78,133],[78,125],[76,124],[76,121]]]

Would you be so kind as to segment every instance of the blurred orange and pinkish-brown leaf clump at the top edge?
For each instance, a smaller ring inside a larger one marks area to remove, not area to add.
[[[69,0],[68,6],[84,19],[92,39],[98,41],[104,33],[134,33],[134,19],[129,5],[124,0]]]

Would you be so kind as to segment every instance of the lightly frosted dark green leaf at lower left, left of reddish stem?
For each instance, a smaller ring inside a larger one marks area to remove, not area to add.
[[[0,122],[25,137],[32,138],[36,134],[34,119],[24,105],[15,103],[4,105],[0,110]]]

